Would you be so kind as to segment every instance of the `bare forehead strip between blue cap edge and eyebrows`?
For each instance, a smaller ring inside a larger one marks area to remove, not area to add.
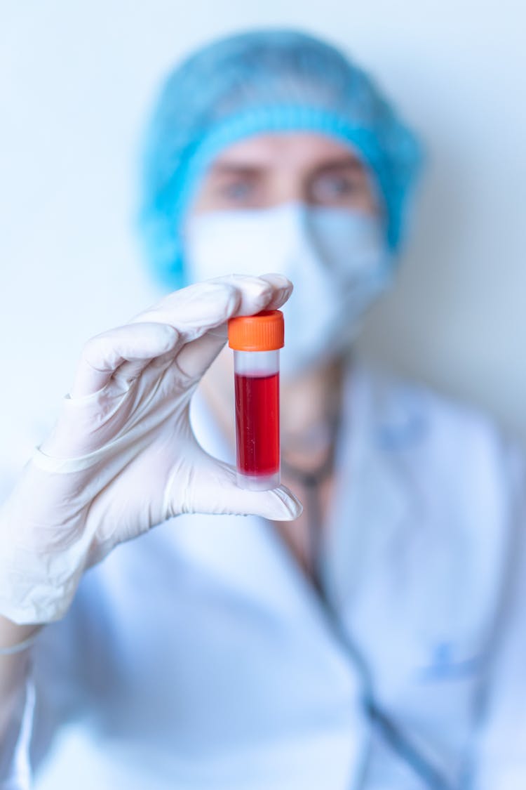
[[[322,167],[324,164],[358,163],[356,149],[333,137],[313,132],[258,134],[237,141],[223,149],[211,170],[225,166],[251,167]]]

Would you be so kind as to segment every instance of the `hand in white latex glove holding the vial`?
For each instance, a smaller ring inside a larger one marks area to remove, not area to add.
[[[62,617],[85,568],[180,513],[300,514],[285,487],[238,488],[188,419],[226,320],[280,307],[291,291],[278,274],[208,280],[88,340],[54,431],[0,510],[0,614]]]

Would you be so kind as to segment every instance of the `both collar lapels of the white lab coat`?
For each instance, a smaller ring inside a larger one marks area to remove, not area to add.
[[[199,392],[192,401],[191,416],[204,449],[233,463],[233,448],[218,430]],[[400,475],[400,457],[425,432],[423,410],[411,389],[394,386],[389,376],[349,360],[336,452],[336,493],[321,562],[327,595],[337,604],[353,596],[367,567],[374,567],[369,564],[374,556],[399,532],[402,523],[411,522],[414,492]],[[205,518],[210,524],[210,517]],[[266,596],[275,594],[300,608],[308,602],[309,608],[319,609],[314,589],[271,524],[256,517],[215,517],[215,531],[221,534],[221,541],[211,542],[200,535],[200,518],[189,519],[189,529],[181,530],[182,525],[177,529],[181,540],[192,546],[201,562],[215,570],[222,568],[231,584],[237,579],[241,585],[254,587],[254,592],[261,586],[263,594],[265,587]],[[209,529],[204,522],[203,529]],[[269,573],[274,578],[272,589],[266,575]],[[286,586],[286,596],[280,585]]]

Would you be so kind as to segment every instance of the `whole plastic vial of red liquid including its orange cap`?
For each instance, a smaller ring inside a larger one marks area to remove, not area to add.
[[[229,320],[236,401],[237,484],[267,491],[280,482],[279,349],[281,310]]]

